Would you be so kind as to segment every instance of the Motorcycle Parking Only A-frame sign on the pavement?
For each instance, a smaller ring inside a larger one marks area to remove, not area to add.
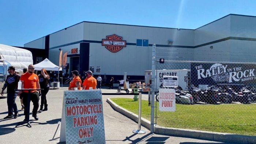
[[[103,144],[105,129],[100,90],[64,91],[67,144]]]

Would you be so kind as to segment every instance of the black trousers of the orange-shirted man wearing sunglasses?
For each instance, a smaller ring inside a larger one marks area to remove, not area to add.
[[[32,110],[32,115],[33,116],[37,115],[37,110],[38,110],[38,107],[39,107],[39,94],[38,94],[38,92],[34,92],[34,93],[30,94],[29,103],[27,103],[28,93],[23,92],[22,95],[23,95],[23,104],[25,106],[25,109],[24,109],[25,118],[27,117],[27,105],[28,104],[30,105],[30,101],[32,101],[33,105],[34,105],[33,110]]]

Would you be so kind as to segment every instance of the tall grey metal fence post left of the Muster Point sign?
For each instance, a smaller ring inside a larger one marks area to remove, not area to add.
[[[154,106],[155,106],[155,44],[152,47],[152,79],[151,79],[151,118],[150,132],[154,133]]]

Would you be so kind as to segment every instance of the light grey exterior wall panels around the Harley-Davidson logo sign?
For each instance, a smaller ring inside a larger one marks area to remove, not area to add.
[[[93,66],[94,69],[97,66],[101,67],[101,73],[97,74],[123,75],[127,72],[127,75],[144,75],[144,70],[151,69],[152,46],[127,45],[120,51],[112,53],[100,42],[106,39],[106,36],[116,34],[123,37],[127,43],[136,44],[136,39],[148,39],[150,45],[154,43],[163,45],[157,47],[158,58],[163,57],[166,60],[169,58],[171,60],[253,62],[256,55],[255,41],[227,39],[216,43],[209,42],[229,37],[256,38],[254,31],[256,31],[256,17],[241,15],[228,15],[196,30],[82,22],[50,34],[49,59],[58,65],[59,48],[63,53],[70,52],[72,48],[80,50],[79,43],[63,45],[85,40],[90,41],[89,66]],[[172,47],[168,47],[168,40],[173,41]],[[44,42],[45,39],[40,38],[24,46],[44,48]],[[198,48],[175,47],[193,47],[205,43],[209,44]],[[51,49],[53,47],[56,48]]]

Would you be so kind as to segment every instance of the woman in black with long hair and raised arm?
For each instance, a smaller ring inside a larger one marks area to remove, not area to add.
[[[47,105],[47,100],[46,100],[46,94],[49,91],[49,83],[48,80],[50,79],[50,76],[48,75],[48,73],[46,72],[46,69],[41,69],[41,75],[39,75],[39,84],[40,84],[40,88],[44,89],[41,90],[41,105],[40,105],[40,109],[38,111],[38,113],[41,113],[42,111],[46,111],[48,110],[48,105]],[[44,109],[43,109],[44,107]]]

